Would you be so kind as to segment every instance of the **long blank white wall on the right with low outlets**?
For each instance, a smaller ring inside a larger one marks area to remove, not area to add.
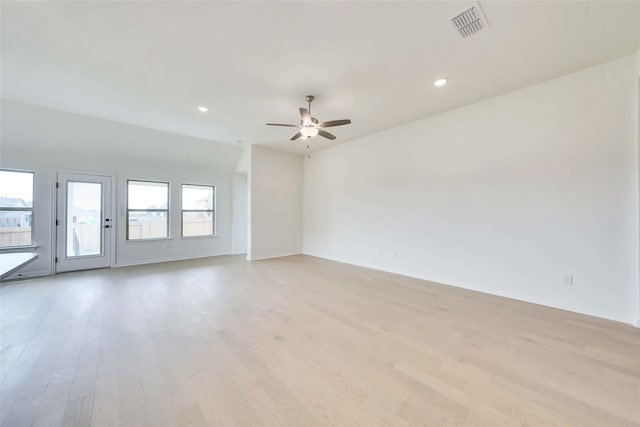
[[[303,252],[634,323],[636,79],[627,57],[314,153]]]

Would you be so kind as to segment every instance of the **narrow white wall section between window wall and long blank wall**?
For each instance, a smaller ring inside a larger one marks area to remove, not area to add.
[[[302,251],[302,156],[251,147],[250,244],[252,260]]]

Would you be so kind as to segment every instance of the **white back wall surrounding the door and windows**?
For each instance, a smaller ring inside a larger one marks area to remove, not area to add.
[[[34,243],[25,276],[52,271],[56,169],[116,174],[117,266],[229,254],[232,177],[242,149],[58,110],[2,100],[0,166],[35,171]],[[169,181],[170,240],[125,241],[127,179]],[[180,237],[180,184],[216,185],[216,237]]]

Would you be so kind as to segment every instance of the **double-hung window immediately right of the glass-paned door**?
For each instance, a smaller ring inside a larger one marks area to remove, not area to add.
[[[169,237],[169,183],[127,181],[127,240]]]

